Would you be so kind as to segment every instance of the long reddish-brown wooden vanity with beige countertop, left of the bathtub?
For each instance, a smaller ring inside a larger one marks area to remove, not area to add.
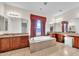
[[[0,52],[24,48],[28,46],[28,34],[17,33],[0,35]]]

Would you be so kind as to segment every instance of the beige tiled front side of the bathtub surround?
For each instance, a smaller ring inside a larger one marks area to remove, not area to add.
[[[42,38],[41,38],[42,39]],[[43,39],[42,39],[43,40]],[[49,47],[52,47],[52,46],[55,46],[56,45],[56,39],[55,38],[51,38],[51,40],[43,40],[43,41],[35,41],[35,42],[32,42],[30,44],[30,52],[33,53],[33,52],[36,52],[36,51],[39,51],[39,50],[42,50],[42,49],[45,49],[45,48],[49,48]]]

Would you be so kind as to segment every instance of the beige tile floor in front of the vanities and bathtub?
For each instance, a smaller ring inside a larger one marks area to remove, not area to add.
[[[57,43],[56,46],[46,48],[34,53],[28,48],[17,49],[0,53],[0,56],[79,56],[79,49],[64,46],[62,43]]]

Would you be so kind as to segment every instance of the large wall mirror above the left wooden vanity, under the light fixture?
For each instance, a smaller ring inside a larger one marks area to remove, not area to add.
[[[27,19],[9,17],[9,33],[27,33]]]

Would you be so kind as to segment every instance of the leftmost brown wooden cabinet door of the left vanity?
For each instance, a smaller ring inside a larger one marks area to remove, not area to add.
[[[1,39],[1,51],[7,51],[10,48],[10,44],[9,44],[9,38],[2,38]]]

